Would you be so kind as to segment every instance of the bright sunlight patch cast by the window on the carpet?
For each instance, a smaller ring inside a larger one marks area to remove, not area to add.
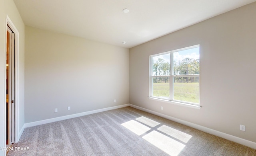
[[[190,138],[192,138],[192,135],[188,135],[182,131],[166,125],[161,126],[160,123],[143,116],[138,117],[135,120],[122,123],[121,125],[136,135],[140,136],[143,134],[142,138],[160,150],[166,152],[170,156],[178,156],[178,154],[186,146],[186,143],[190,140]],[[159,126],[156,127],[157,125]]]

